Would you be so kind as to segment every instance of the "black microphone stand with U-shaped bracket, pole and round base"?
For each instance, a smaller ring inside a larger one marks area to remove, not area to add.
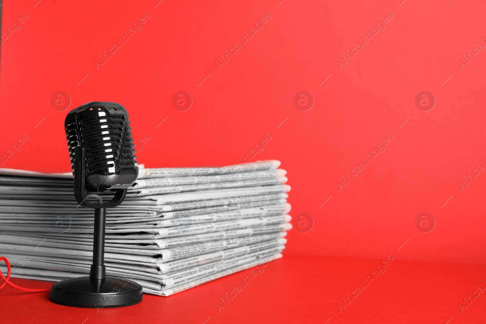
[[[106,207],[121,204],[126,189],[116,189],[114,197],[102,203],[97,194],[86,194],[84,179],[86,176],[86,150],[75,148],[74,160],[74,195],[80,205],[94,208],[93,264],[89,276],[70,278],[56,282],[51,287],[51,301],[71,307],[112,308],[135,305],[142,301],[142,287],[126,278],[106,276],[104,266],[104,229]],[[88,202],[88,198],[98,198],[100,204]],[[81,201],[81,202],[80,202]]]

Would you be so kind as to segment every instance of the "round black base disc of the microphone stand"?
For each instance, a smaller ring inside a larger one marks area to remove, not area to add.
[[[134,281],[109,276],[105,279],[71,278],[52,285],[51,301],[70,307],[124,307],[142,301],[142,287]]]

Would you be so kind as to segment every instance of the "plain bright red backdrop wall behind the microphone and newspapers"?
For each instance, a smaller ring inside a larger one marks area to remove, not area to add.
[[[127,108],[134,138],[150,136],[137,154],[149,168],[241,163],[270,134],[253,160],[282,162],[291,215],[314,222],[289,233],[284,258],[337,255],[353,268],[355,257],[392,255],[484,277],[470,266],[486,262],[486,175],[462,191],[458,182],[486,167],[486,54],[462,69],[458,60],[486,45],[486,3],[37,1],[4,1],[2,32],[29,18],[1,46],[0,153],[29,139],[2,167],[69,171],[64,118],[89,101]],[[144,13],[143,29],[97,69]],[[218,69],[266,13],[264,29]],[[340,69],[388,13],[385,30]],[[52,107],[56,91],[69,94],[68,110]],[[178,91],[191,94],[189,110],[174,108]],[[312,109],[295,107],[299,91],[312,94]],[[434,95],[432,110],[417,108],[421,91]],[[386,151],[340,191],[336,182],[388,134]],[[429,233],[415,225],[422,212],[435,219]]]

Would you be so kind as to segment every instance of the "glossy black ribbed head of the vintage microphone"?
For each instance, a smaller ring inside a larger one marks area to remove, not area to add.
[[[128,113],[116,102],[88,102],[66,116],[64,126],[72,172],[74,148],[82,146],[86,150],[88,191],[125,189],[137,180],[139,168],[129,125]]]

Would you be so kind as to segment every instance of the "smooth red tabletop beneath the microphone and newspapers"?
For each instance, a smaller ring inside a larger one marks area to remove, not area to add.
[[[394,259],[365,287],[361,280],[385,259],[284,256],[253,273],[246,286],[242,281],[252,269],[170,297],[144,294],[142,303],[122,308],[64,307],[50,302],[48,293],[26,293],[7,286],[0,291],[0,322],[485,323],[486,293],[478,291],[486,288],[485,265]],[[13,282],[26,288],[52,284],[18,278]],[[241,288],[236,297],[226,298],[236,286]],[[347,293],[356,296],[357,286],[363,291],[354,300],[349,298],[351,302],[340,311],[338,303],[344,306],[342,298]],[[469,297],[469,293],[479,296]],[[226,298],[226,305],[221,298]],[[469,298],[469,305],[463,298]]]

